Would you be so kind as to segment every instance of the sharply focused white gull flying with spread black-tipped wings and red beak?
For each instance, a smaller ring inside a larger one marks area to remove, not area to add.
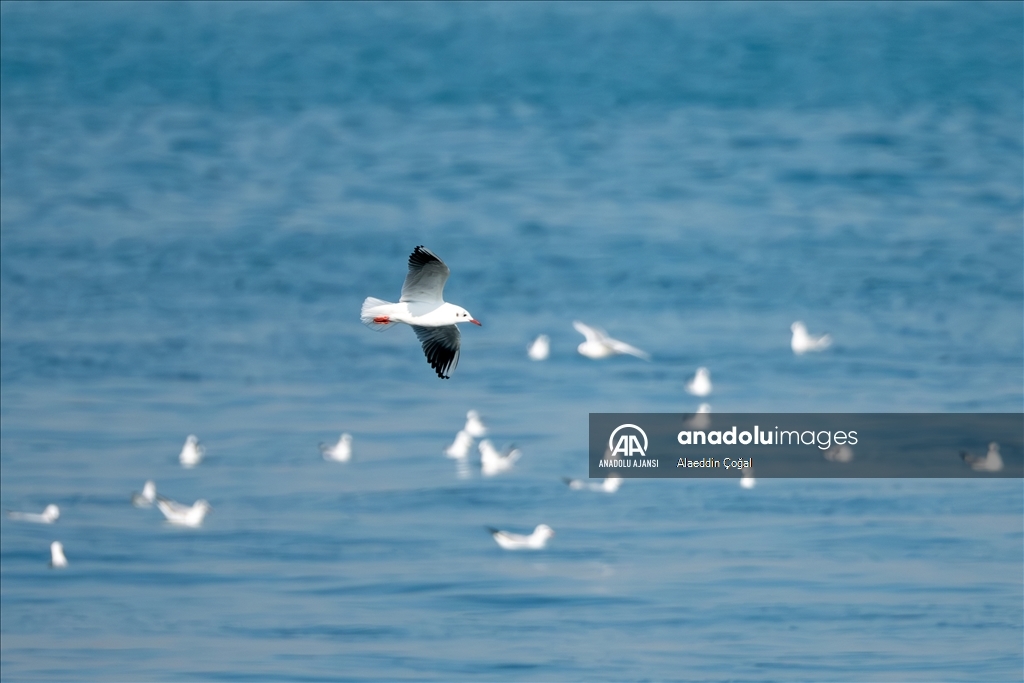
[[[395,323],[411,326],[423,345],[427,362],[442,380],[449,379],[459,365],[462,336],[457,325],[480,325],[462,306],[444,302],[449,274],[444,261],[429,249],[417,247],[409,257],[409,274],[398,303],[367,297],[359,313],[362,323],[374,330],[386,330]]]

